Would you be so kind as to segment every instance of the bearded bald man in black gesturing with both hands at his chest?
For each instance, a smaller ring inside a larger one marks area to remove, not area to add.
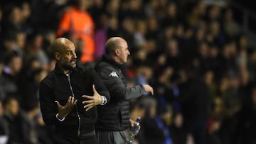
[[[110,93],[95,70],[76,65],[73,42],[57,38],[52,50],[55,69],[40,84],[43,121],[55,126],[55,143],[97,143],[96,106],[107,104]]]

